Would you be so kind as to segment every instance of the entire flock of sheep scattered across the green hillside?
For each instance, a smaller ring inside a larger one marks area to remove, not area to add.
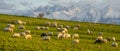
[[[18,27],[18,29],[26,29],[24,25],[26,25],[26,22],[21,21],[21,20],[17,20],[14,22],[15,24],[19,24],[20,26]],[[68,33],[68,29],[70,29],[70,26],[63,26],[63,25],[58,25],[57,22],[46,22],[45,23],[45,27],[39,27],[36,26],[34,29],[35,30],[49,30],[49,27],[54,27],[57,30],[56,33],[56,37],[57,39],[68,39],[68,38],[72,38],[73,40],[71,41],[72,44],[78,44],[79,43],[79,34],[75,33],[73,35]],[[7,26],[4,28],[4,32],[13,32],[15,28],[14,24],[7,24]],[[75,27],[73,27],[73,30],[78,30],[80,28],[80,25],[76,25]],[[91,30],[87,30],[86,31],[87,34],[93,34],[93,31]],[[51,36],[53,35],[53,32],[48,32],[45,33],[43,32],[41,34],[41,37],[43,40],[47,40],[50,41],[51,40]],[[30,30],[25,30],[24,32],[20,32],[20,33],[14,33],[12,35],[13,38],[20,38],[21,36],[24,36],[25,39],[32,39],[32,35],[31,35],[31,31]],[[115,37],[113,38],[103,38],[103,32],[99,32],[98,37],[96,38],[94,43],[107,43],[107,41],[112,40],[113,43],[111,44],[112,47],[118,47],[118,43],[115,40]]]

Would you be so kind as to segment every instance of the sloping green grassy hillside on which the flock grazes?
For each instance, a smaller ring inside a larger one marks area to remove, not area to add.
[[[25,39],[24,37],[13,38],[14,33],[19,33],[24,30],[18,29],[18,24],[15,24],[14,32],[3,32],[3,29],[7,24],[13,23],[15,20],[26,21],[25,25],[27,30],[31,30],[32,39]],[[51,37],[51,41],[43,41],[40,37],[43,32],[54,32],[56,34],[56,28],[50,27],[49,30],[34,30],[35,26],[44,26],[46,22],[57,22],[60,25],[72,26],[80,24],[79,30],[74,31],[69,29],[69,34],[78,33],[80,38],[79,44],[71,44],[73,39],[57,39],[56,36]],[[87,29],[92,30],[93,35],[87,35]],[[120,44],[120,25],[111,24],[95,24],[92,23],[90,27],[86,22],[72,22],[63,20],[51,20],[51,19],[37,19],[24,16],[13,15],[0,15],[0,51],[120,51],[118,48],[111,47],[112,41],[107,44],[94,44],[98,32],[103,32],[103,37],[116,37],[116,42]]]

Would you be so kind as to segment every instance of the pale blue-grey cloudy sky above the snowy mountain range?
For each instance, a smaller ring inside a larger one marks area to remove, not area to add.
[[[1,14],[19,14],[20,12],[27,11],[29,9],[35,9],[39,6],[50,5],[56,1],[67,2],[85,2],[91,5],[99,6],[109,4],[110,7],[120,13],[120,0],[0,0],[0,13]],[[24,12],[25,13],[25,12]]]

